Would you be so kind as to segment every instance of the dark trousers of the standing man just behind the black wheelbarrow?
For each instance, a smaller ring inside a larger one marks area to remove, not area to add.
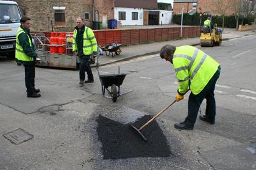
[[[84,55],[81,57],[79,78],[80,81],[85,80],[85,72],[87,72],[88,80],[93,80],[93,73],[90,66],[90,55]]]

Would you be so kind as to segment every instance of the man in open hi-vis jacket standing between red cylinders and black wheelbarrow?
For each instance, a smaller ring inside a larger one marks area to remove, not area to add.
[[[80,58],[79,84],[93,83],[93,73],[90,67],[90,56],[95,58],[98,55],[98,44],[93,30],[84,25],[82,18],[76,19],[77,26],[73,35],[73,52]],[[88,79],[85,81],[85,72]]]

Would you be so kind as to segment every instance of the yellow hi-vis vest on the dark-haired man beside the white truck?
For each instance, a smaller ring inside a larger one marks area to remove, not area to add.
[[[20,61],[34,61],[34,58],[32,56],[26,55],[26,53],[24,53],[23,51],[23,47],[21,46],[20,41],[18,39],[21,33],[25,33],[27,35],[27,33],[23,29],[21,29],[21,27],[18,29],[16,33],[15,58]],[[27,37],[29,38],[29,35],[27,35]],[[32,42],[30,38],[29,38],[29,46],[32,47]]]

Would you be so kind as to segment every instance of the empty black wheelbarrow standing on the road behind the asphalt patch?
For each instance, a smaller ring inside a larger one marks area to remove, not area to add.
[[[125,73],[120,73],[120,67],[118,66],[118,74],[104,74],[101,75],[99,73],[99,61],[97,58],[96,64],[99,80],[101,81],[101,90],[102,94],[105,95],[105,91],[107,90],[108,95],[111,96],[112,101],[116,102],[117,98],[120,94],[120,86],[123,84],[124,78],[126,77]]]

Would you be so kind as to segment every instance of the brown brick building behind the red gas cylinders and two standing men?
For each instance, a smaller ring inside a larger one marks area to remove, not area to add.
[[[71,32],[76,26],[76,18],[81,16],[85,24],[92,27],[92,21],[102,21],[107,28],[107,20],[114,19],[113,0],[16,0],[22,15],[29,16],[32,31]]]

